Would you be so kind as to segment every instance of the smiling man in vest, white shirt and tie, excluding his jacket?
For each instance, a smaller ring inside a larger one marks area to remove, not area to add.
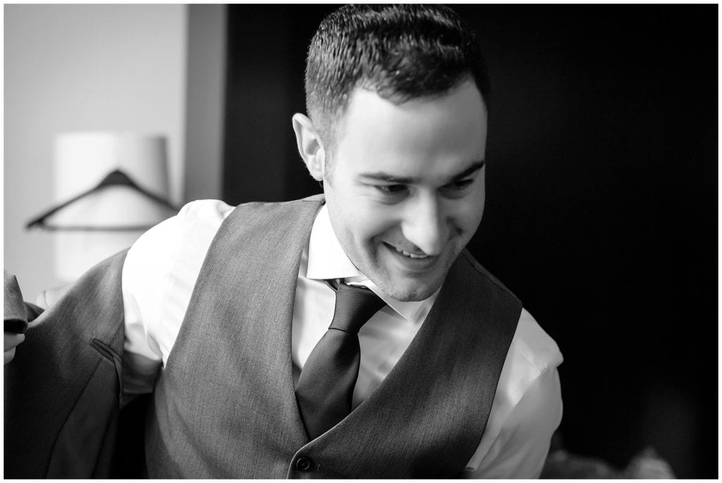
[[[305,87],[293,129],[322,197],[190,203],[124,260],[149,476],[538,477],[562,358],[464,251],[484,209],[474,35],[443,6],[344,6]],[[347,293],[378,301],[360,329],[334,325]],[[360,346],[345,409],[336,336]]]

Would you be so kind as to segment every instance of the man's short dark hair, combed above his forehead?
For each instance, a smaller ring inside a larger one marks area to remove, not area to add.
[[[488,106],[476,35],[449,7],[345,5],[323,19],[308,48],[306,110],[329,144],[356,87],[402,103],[444,94],[469,78]]]

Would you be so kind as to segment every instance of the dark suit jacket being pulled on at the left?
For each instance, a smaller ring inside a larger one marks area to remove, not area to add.
[[[113,476],[125,255],[93,267],[60,301],[31,319],[25,342],[5,365],[6,478]],[[13,279],[5,275],[6,288],[17,288]],[[9,315],[17,318],[22,296],[12,300]]]

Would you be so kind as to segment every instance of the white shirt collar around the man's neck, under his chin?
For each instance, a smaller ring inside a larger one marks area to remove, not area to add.
[[[352,285],[364,285],[382,298],[391,309],[404,317],[404,319],[414,322],[425,319],[438,295],[437,291],[422,301],[402,302],[384,293],[349,260],[331,226],[329,208],[326,204],[321,206],[321,210],[318,211],[316,220],[313,221],[313,226],[311,227],[311,236],[308,242],[306,278],[314,280],[342,278],[345,279],[346,283]]]

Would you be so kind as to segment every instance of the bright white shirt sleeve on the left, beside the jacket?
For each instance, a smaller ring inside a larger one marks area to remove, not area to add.
[[[231,206],[217,200],[188,203],[129,250],[122,283],[126,394],[152,391],[181,329],[206,252],[230,211]]]

